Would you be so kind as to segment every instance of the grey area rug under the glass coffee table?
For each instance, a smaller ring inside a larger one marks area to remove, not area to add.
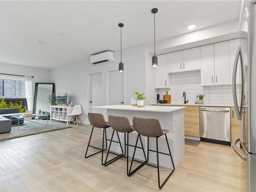
[[[49,125],[38,124],[33,122],[25,121],[24,124],[18,126],[12,126],[12,131],[10,133],[2,133],[0,134],[0,141],[14,139],[18,137],[25,137],[29,135],[35,135],[45,132],[51,132],[56,130],[62,130],[72,127],[71,125],[67,125],[66,123],[58,122],[58,121],[49,121]]]

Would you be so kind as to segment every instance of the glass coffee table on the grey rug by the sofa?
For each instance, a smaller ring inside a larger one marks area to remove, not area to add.
[[[47,125],[49,125],[48,115],[44,115],[44,114],[34,114],[32,116],[24,116],[24,114],[17,114],[17,115],[15,114],[15,115],[11,115],[11,120],[12,118],[18,119],[18,123],[13,125],[13,126],[18,125],[18,129],[19,129],[19,123],[25,122],[25,121],[46,125],[45,123],[41,123],[40,120],[47,120]],[[35,121],[35,120],[38,120],[38,121]]]

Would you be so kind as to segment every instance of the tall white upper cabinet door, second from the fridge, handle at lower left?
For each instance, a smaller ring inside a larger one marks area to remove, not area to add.
[[[229,84],[229,41],[214,44],[215,84]]]

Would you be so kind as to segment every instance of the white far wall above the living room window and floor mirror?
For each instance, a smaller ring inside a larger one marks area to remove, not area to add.
[[[50,70],[24,67],[0,62],[0,73],[13,75],[34,76],[33,78],[33,94],[36,82],[50,82]]]

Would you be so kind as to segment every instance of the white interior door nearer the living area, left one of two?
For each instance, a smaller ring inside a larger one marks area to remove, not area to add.
[[[90,106],[102,105],[101,73],[90,75]],[[93,113],[102,113],[101,109],[91,109]]]

